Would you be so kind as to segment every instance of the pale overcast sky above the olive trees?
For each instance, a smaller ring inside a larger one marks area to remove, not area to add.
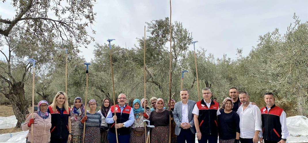
[[[6,4],[0,2],[0,15],[12,19],[14,10]],[[97,0],[94,11],[95,42],[103,44],[113,38],[112,43],[121,47],[126,43],[128,48],[143,36],[145,22],[170,16],[169,0]],[[182,22],[193,33],[193,40],[199,41],[196,48],[203,47],[216,58],[227,54],[235,59],[237,48],[244,49],[243,55],[249,54],[258,36],[275,28],[285,33],[294,22],[294,12],[301,22],[307,21],[308,0],[172,0],[172,22]],[[81,48],[80,55],[87,61],[94,58],[95,42],[88,49]],[[193,45],[189,49],[193,50]]]

